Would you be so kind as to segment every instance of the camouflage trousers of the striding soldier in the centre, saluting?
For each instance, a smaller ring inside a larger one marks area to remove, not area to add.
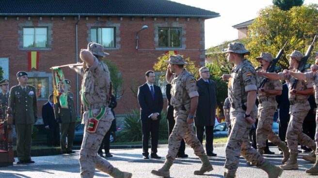
[[[192,124],[187,123],[187,118],[188,112],[186,111],[178,111],[178,115],[175,116],[175,127],[168,140],[169,150],[166,156],[167,160],[175,160],[182,139],[185,140],[186,144],[193,148],[196,156],[206,155],[201,142],[195,135]]]

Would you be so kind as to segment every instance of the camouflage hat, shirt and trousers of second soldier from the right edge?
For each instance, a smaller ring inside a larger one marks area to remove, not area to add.
[[[291,55],[287,55],[287,57],[293,57],[300,61],[302,59],[302,53],[294,51]],[[290,71],[300,72],[296,69],[292,69]],[[288,91],[290,91],[292,84],[296,79],[291,75],[284,75],[282,72],[278,74],[281,80],[286,80],[288,83]],[[313,88],[313,84],[308,81],[298,81],[297,86],[295,87],[298,91],[309,88]],[[313,150],[316,149],[314,140],[312,140],[308,135],[302,133],[302,122],[310,109],[308,98],[309,95],[300,95],[297,93],[291,95],[288,92],[290,120],[287,128],[286,140],[290,154],[298,154],[298,143],[301,143],[308,148],[312,148]]]

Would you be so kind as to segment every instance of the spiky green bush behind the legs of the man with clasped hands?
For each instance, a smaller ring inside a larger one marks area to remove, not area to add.
[[[161,120],[159,122],[159,140],[168,139],[168,123],[166,113],[160,113]],[[123,130],[117,137],[118,142],[134,142],[142,141],[142,122],[140,120],[140,110],[133,109],[131,113],[124,117]]]

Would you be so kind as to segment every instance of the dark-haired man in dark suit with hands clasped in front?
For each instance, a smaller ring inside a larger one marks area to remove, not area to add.
[[[155,73],[147,71],[147,82],[138,88],[138,103],[140,105],[140,119],[143,129],[143,159],[149,159],[148,140],[151,133],[151,158],[160,159],[157,155],[159,138],[159,121],[163,107],[161,89],[154,85]]]

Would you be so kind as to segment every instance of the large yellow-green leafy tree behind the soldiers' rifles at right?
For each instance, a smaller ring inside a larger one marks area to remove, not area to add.
[[[283,11],[277,6],[269,6],[258,12],[258,17],[249,26],[250,41],[246,48],[251,51],[250,59],[256,64],[255,57],[261,52],[269,52],[273,57],[288,41],[285,52],[278,61],[283,69],[289,66],[286,54],[299,50],[303,54],[317,33],[318,4],[294,6]],[[314,51],[318,49],[314,45]]]

